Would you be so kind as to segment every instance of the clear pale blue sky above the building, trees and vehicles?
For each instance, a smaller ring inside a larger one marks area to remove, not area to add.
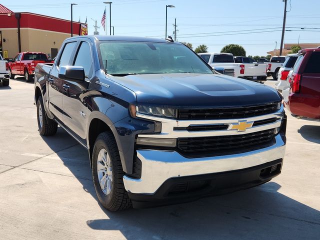
[[[111,25],[116,35],[164,37],[165,5],[168,8],[167,32],[172,35],[174,18],[177,22],[177,40],[191,42],[193,49],[206,44],[209,51],[220,51],[229,43],[240,44],[247,55],[266,55],[277,48],[281,40],[284,2],[282,0],[111,0]],[[100,20],[104,11],[103,0],[2,0],[12,11],[29,11],[70,19],[88,19],[88,33],[93,33],[96,19],[98,31],[103,33]],[[318,0],[288,0],[285,43],[320,42],[320,13]],[[312,7],[314,6],[314,7]],[[107,5],[107,27],[109,9]],[[289,28],[290,27],[290,28]],[[293,28],[296,27],[296,28]],[[304,27],[305,29],[300,29]],[[319,29],[317,29],[319,28]],[[255,30],[252,30],[255,29]],[[108,28],[107,28],[108,30]],[[257,33],[247,33],[254,32]],[[244,33],[244,34],[238,34]]]

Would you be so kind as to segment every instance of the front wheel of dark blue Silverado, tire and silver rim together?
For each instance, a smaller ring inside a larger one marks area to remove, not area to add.
[[[92,152],[92,177],[96,195],[103,207],[117,211],[131,206],[124,189],[119,151],[110,132],[102,132],[95,140]]]

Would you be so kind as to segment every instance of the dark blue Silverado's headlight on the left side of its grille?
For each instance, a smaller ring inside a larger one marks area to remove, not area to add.
[[[136,114],[140,113],[143,115],[157,116],[157,117],[171,117],[176,118],[177,111],[175,108],[162,107],[162,106],[148,106],[138,104],[130,105],[130,114],[132,117],[136,117]]]

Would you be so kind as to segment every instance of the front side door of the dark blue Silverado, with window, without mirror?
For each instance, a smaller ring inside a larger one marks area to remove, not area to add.
[[[74,136],[86,144],[86,114],[87,107],[84,102],[85,91],[88,89],[90,79],[94,77],[93,57],[89,41],[80,41],[70,65],[82,66],[85,79],[64,79],[63,82],[63,122]]]

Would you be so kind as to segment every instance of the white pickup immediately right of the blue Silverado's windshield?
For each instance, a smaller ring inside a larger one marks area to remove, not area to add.
[[[232,53],[205,52],[198,55],[214,69],[224,69],[224,74],[229,76],[240,75],[240,64],[234,63]]]

